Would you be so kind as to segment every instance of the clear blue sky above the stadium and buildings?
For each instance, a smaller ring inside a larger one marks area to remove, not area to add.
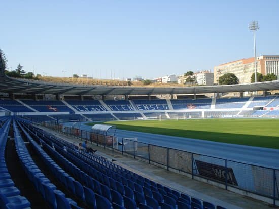
[[[155,78],[279,55],[279,1],[2,1],[8,65],[44,75]]]

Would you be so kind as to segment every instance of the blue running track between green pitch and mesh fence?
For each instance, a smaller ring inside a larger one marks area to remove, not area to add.
[[[82,124],[79,129],[88,131],[91,127]],[[279,169],[279,149],[227,144],[125,130],[116,130],[115,136],[118,137],[119,141],[122,138],[137,137],[138,142]]]

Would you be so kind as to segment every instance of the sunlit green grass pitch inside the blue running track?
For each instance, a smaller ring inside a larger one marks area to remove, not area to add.
[[[126,120],[105,123],[129,131],[279,149],[279,119]]]

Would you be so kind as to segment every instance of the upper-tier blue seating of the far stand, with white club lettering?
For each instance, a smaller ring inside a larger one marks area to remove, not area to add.
[[[267,105],[275,96],[268,97],[255,97],[249,108],[254,106],[265,106]],[[216,100],[216,109],[224,108],[242,108],[245,103],[249,100],[246,98],[221,98]],[[182,100],[171,100],[173,109],[210,109],[212,99],[182,99]],[[34,101],[34,100],[22,100],[25,104],[36,109],[39,112],[71,112],[72,109],[67,107],[61,101]],[[88,111],[131,111],[135,110],[129,101],[126,100],[104,100],[109,107],[106,109],[98,100],[69,100],[67,101],[74,109],[80,112]],[[133,100],[136,110],[169,110],[168,104],[165,99],[157,100]],[[279,105],[278,100],[273,101],[268,105],[268,107],[275,107]],[[1,100],[0,106],[12,112],[33,112],[33,110],[27,108],[21,103],[14,100]]]

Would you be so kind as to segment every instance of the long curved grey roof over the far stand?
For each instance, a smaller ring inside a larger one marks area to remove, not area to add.
[[[121,87],[74,85],[68,83],[53,83],[8,77],[4,74],[4,66],[1,57],[0,68],[0,92],[4,93],[58,95],[158,95],[269,91],[279,89],[279,80],[239,85],[199,87]]]

